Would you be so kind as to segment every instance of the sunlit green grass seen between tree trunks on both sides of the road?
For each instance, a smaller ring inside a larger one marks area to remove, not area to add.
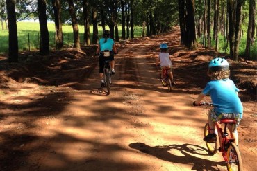
[[[83,42],[83,26],[78,26],[80,30],[80,39]],[[40,26],[39,23],[35,22],[17,22],[18,29],[18,43],[19,51],[38,51],[40,47]],[[54,48],[55,46],[55,26],[53,23],[48,24],[49,30],[49,46]],[[90,31],[92,31],[92,26],[90,26]],[[63,41],[65,46],[73,45],[73,30],[72,26],[63,25]],[[136,26],[134,28],[135,37],[140,37],[142,35],[142,28]],[[102,35],[102,28],[99,26],[99,37]],[[122,35],[122,28],[119,27],[119,35]],[[246,34],[242,37],[240,42],[240,55],[243,55],[244,48],[246,45]],[[91,33],[92,37],[92,33]],[[8,53],[8,31],[0,31],[0,54]],[[213,45],[214,46],[214,45]],[[219,36],[219,51],[229,53],[229,48],[224,48],[224,38]],[[254,46],[251,46],[251,59],[257,59],[257,41]]]

